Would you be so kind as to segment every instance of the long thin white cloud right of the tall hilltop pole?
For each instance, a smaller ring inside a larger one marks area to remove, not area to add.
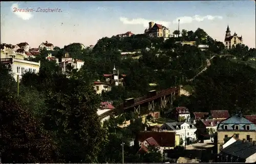
[[[200,16],[200,15],[195,15],[193,17],[191,16],[182,16],[182,17],[178,17],[176,18],[173,23],[177,24],[179,22],[180,19],[180,24],[184,24],[184,23],[191,23],[193,21],[204,21],[204,20],[214,20],[214,19],[222,19],[222,16],[212,16],[212,15],[206,15],[206,16]]]

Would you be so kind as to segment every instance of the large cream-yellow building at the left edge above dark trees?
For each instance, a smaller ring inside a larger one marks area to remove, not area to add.
[[[17,75],[21,79],[26,72],[39,72],[40,61],[39,63],[26,61],[25,56],[25,53],[16,52],[6,46],[1,47],[1,63],[10,65],[15,80]]]

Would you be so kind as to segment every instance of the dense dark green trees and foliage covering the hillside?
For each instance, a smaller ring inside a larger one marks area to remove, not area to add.
[[[178,34],[179,32],[174,32]],[[197,46],[176,42],[196,41],[209,44],[207,51]],[[112,100],[114,105],[125,98],[139,97],[148,90],[162,90],[177,85],[190,86],[190,97],[180,96],[174,102],[187,106],[190,112],[229,110],[243,108],[244,114],[253,114],[255,103],[255,69],[230,61],[231,54],[237,61],[247,62],[255,49],[237,45],[225,50],[222,42],[216,41],[202,29],[182,30],[180,37],[147,38],[135,35],[127,38],[102,38],[93,49],[81,48],[73,43],[53,51],[41,50],[32,61],[41,62],[37,74],[26,73],[19,85],[10,73],[10,68],[1,65],[1,137],[2,162],[122,162],[122,143],[125,162],[162,162],[161,154],[149,148],[147,154],[138,154],[137,134],[144,129],[134,113],[110,118],[101,126],[96,114],[100,102]],[[141,58],[123,58],[121,51],[137,51]],[[48,53],[57,58],[69,52],[74,59],[84,61],[79,70],[69,72],[69,78],[60,74],[55,62],[46,60]],[[211,66],[194,81],[194,77]],[[97,95],[92,82],[103,73],[112,73],[113,67],[126,74],[124,87],[112,87],[111,92]],[[152,87],[149,84],[155,83]],[[124,120],[131,120],[126,128],[120,128]],[[130,146],[131,141],[134,146]]]

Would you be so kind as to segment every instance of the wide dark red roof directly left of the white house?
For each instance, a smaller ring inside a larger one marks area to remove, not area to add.
[[[139,133],[138,140],[143,142],[151,137],[154,138],[160,146],[175,146],[175,132],[143,131]]]

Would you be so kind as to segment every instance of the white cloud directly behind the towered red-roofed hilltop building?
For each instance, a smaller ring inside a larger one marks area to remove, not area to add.
[[[136,18],[136,19],[128,19],[128,18],[125,18],[125,17],[120,17],[119,18],[121,22],[123,22],[123,24],[141,24],[143,25],[145,28],[148,27],[148,22],[155,22],[155,23],[158,23],[158,24],[162,24],[162,25],[165,25],[165,26],[169,26],[171,22],[169,21],[162,21],[162,20],[147,20],[147,19],[143,19],[143,18]]]

